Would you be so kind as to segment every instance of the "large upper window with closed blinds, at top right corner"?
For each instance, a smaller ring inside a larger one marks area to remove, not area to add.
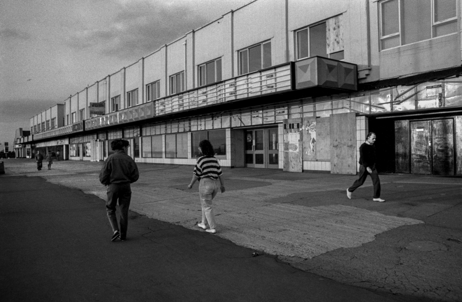
[[[380,46],[388,49],[457,32],[457,0],[380,3]]]

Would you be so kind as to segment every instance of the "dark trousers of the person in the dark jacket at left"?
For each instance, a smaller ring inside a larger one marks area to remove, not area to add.
[[[120,209],[120,238],[127,238],[128,227],[128,208],[130,207],[130,199],[132,197],[132,190],[130,183],[110,184],[108,187],[108,201],[106,202],[106,211],[108,212],[109,222],[111,223],[112,230],[118,231],[119,225],[117,224],[116,205],[119,200]]]

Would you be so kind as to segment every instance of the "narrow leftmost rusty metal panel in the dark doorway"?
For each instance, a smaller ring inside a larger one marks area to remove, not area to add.
[[[409,120],[395,121],[395,171],[411,173]]]

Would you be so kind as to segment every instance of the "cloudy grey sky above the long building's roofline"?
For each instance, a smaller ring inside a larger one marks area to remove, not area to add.
[[[252,0],[2,0],[0,150],[30,118]]]

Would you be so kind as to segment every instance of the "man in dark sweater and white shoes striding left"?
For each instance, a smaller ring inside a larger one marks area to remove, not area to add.
[[[346,196],[351,199],[351,193],[358,187],[362,186],[367,178],[367,175],[371,175],[372,183],[374,184],[374,201],[384,202],[385,200],[380,198],[380,179],[379,174],[376,170],[376,133],[369,132],[367,139],[359,147],[359,178],[353,183],[351,187],[346,189]]]

